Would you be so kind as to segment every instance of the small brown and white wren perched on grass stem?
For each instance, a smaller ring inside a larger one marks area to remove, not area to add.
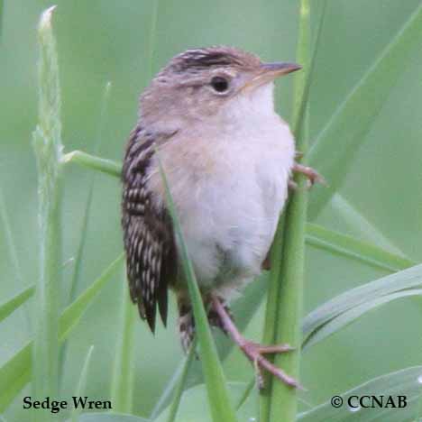
[[[130,296],[151,332],[157,311],[166,325],[172,290],[185,350],[195,335],[162,167],[210,324],[292,387],[298,381],[264,357],[291,347],[244,339],[229,303],[268,267],[292,172],[305,173],[311,183],[319,179],[315,170],[295,162],[289,124],[274,110],[274,80],[299,69],[296,63],[262,62],[234,47],[180,53],[140,96],[122,171]]]

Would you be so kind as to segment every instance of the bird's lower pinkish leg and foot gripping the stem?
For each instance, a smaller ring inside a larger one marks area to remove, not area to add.
[[[262,385],[262,378],[260,376],[261,370],[266,370],[271,372],[272,375],[277,377],[280,381],[283,381],[285,384],[290,387],[301,388],[298,381],[290,377],[286,372],[283,372],[280,368],[272,364],[270,361],[265,359],[262,355],[265,353],[284,353],[289,352],[292,348],[289,344],[281,344],[275,346],[264,346],[261,344],[253,343],[249,340],[246,340],[243,335],[240,334],[239,330],[234,326],[232,318],[228,315],[225,310],[224,305],[221,303],[220,299],[214,296],[212,298],[212,307],[216,311],[216,314],[220,317],[221,325],[224,327],[225,332],[229,335],[235,344],[237,344],[246,357],[255,365],[257,368],[257,377],[258,377],[258,386],[260,388]]]

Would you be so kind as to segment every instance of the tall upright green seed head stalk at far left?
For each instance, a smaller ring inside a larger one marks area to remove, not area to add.
[[[41,275],[36,285],[35,337],[32,350],[32,396],[57,397],[59,389],[58,320],[61,280],[61,166],[59,66],[51,15],[47,9],[38,28],[39,124],[33,134],[38,164]],[[41,416],[42,415],[42,416]],[[46,422],[51,415],[34,411],[33,420]]]

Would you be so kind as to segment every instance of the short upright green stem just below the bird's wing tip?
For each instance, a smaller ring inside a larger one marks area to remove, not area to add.
[[[120,413],[132,413],[133,406],[133,329],[136,308],[129,298],[126,271],[122,274],[122,315],[118,330],[115,350],[115,368],[111,383],[111,399],[113,410]]]

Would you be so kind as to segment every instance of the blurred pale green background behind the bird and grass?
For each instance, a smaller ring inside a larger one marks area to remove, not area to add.
[[[137,98],[151,74],[171,56],[192,47],[227,44],[252,50],[263,60],[294,60],[298,2],[162,1],[151,39],[152,2],[59,1],[54,30],[60,60],[63,142],[66,151],[93,152],[98,133],[101,155],[120,161],[136,121]],[[344,97],[391,41],[419,0],[331,0],[316,58],[310,95],[310,141],[325,126]],[[318,10],[319,2],[312,5]],[[37,181],[32,131],[37,119],[36,25],[41,1],[6,1],[0,38],[0,187],[13,229],[22,270],[11,264],[0,235],[0,302],[38,277]],[[150,49],[153,46],[152,61]],[[421,261],[422,249],[422,42],[402,63],[400,76],[380,114],[353,151],[347,174],[323,212],[313,220],[328,228],[377,243]],[[292,78],[278,83],[277,109],[289,120]],[[112,84],[107,112],[98,129],[105,84]],[[348,127],[344,127],[347,131]],[[338,139],[336,148],[344,148]],[[329,158],[328,158],[329,159]],[[63,257],[75,256],[92,173],[69,166],[63,204]],[[330,183],[330,180],[328,180]],[[321,187],[310,194],[318,194]],[[96,176],[87,233],[85,289],[122,250],[120,184]],[[0,232],[1,233],[1,232]],[[66,264],[63,305],[69,293],[72,263]],[[336,294],[385,275],[362,264],[307,248],[306,311]],[[70,337],[62,377],[63,395],[71,396],[87,349],[95,345],[88,395],[109,397],[118,338],[122,277],[107,284]],[[23,307],[0,325],[0,364],[32,333],[31,310]],[[174,303],[171,303],[174,309]],[[259,340],[263,307],[247,334]],[[173,312],[167,330],[155,338],[136,320],[134,411],[148,415],[177,366],[181,351]],[[303,395],[315,405],[374,376],[417,365],[422,357],[420,301],[400,300],[362,317],[303,356]],[[220,338],[220,336],[218,336]],[[249,381],[252,369],[240,353],[225,362],[231,381]],[[29,391],[28,389],[26,391]],[[26,395],[26,394],[25,394]],[[25,420],[22,398],[5,413]],[[304,406],[307,408],[307,406]]]

